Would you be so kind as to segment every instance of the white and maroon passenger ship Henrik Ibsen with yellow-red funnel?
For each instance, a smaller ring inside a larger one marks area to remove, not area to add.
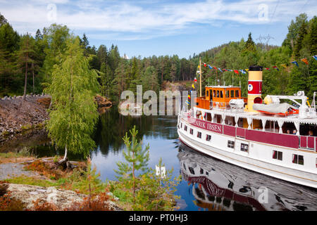
[[[304,91],[262,99],[262,69],[249,67],[247,98],[240,86],[206,86],[178,114],[179,139],[233,165],[317,188],[316,92],[311,105]]]

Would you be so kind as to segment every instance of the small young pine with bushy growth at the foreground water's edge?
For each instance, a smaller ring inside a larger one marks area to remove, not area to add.
[[[118,193],[121,200],[132,203],[132,209],[128,210],[174,210],[174,195],[180,181],[180,176],[173,179],[173,169],[161,174],[147,166],[149,162],[149,145],[142,148],[140,141],[137,141],[138,131],[133,127],[130,130],[132,141],[125,134],[123,138],[127,151],[123,151],[126,162],[117,162],[118,170],[115,172],[118,182],[111,185],[111,191]],[[159,168],[164,167],[162,160],[159,160]],[[139,170],[139,172],[138,172]],[[131,191],[132,190],[132,191]]]

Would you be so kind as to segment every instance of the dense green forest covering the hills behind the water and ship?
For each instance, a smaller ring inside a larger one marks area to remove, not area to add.
[[[89,64],[99,74],[101,94],[118,101],[121,91],[159,91],[163,81],[192,80],[197,77],[199,57],[216,68],[242,69],[262,65],[263,94],[290,94],[304,90],[309,98],[317,91],[317,17],[308,20],[305,13],[292,20],[282,46],[255,44],[251,33],[247,41],[232,41],[189,58],[151,56],[148,58],[120,56],[118,46],[98,48],[90,46],[83,34],[80,45],[89,57]],[[74,34],[66,25],[52,24],[37,30],[35,37],[18,34],[9,21],[0,14],[0,96],[41,94],[51,82],[54,65],[66,52],[66,42]],[[307,58],[308,64],[301,59]],[[297,60],[298,66],[292,61]],[[274,70],[273,65],[279,70]],[[284,65],[283,67],[280,65]],[[247,94],[247,74],[210,70],[202,66],[203,84],[242,84]],[[203,85],[203,86],[204,86]]]

